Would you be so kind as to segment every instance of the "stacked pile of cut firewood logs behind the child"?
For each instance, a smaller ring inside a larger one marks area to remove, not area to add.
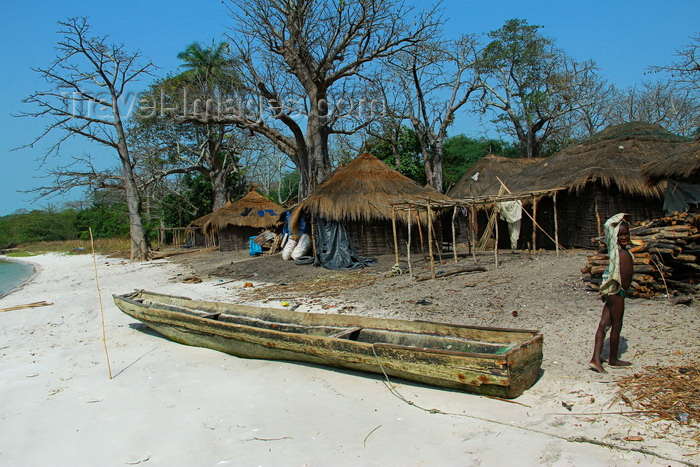
[[[634,256],[634,277],[628,290],[632,297],[651,298],[674,292],[694,294],[700,281],[700,214],[675,214],[635,225],[630,229],[630,252]],[[588,288],[598,291],[608,267],[608,255],[601,237],[598,253],[588,255],[581,269]]]

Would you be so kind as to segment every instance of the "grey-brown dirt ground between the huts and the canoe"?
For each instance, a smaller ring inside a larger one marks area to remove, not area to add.
[[[436,273],[482,266],[438,279],[429,277],[429,262],[405,258],[402,274],[389,271],[393,255],[361,270],[331,271],[297,266],[279,254],[251,258],[247,252],[207,252],[179,255],[173,261],[189,266],[194,275],[213,276],[241,301],[289,302],[299,311],[320,306],[332,313],[349,313],[456,324],[537,329],[544,335],[543,370],[550,376],[583,381],[608,381],[649,365],[700,362],[700,306],[672,305],[664,297],[629,299],[621,339],[621,357],[629,369],[601,375],[588,369],[593,334],[600,318],[600,297],[587,291],[580,269],[590,252],[573,250],[499,254],[480,252],[476,263],[460,255],[455,263],[444,253]],[[413,278],[412,278],[413,277]],[[243,287],[248,283],[248,287]],[[252,286],[251,286],[252,285]],[[607,344],[603,357],[607,356]]]

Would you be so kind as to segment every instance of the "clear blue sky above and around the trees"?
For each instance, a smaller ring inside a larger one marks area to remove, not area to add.
[[[432,5],[420,0],[407,3],[417,8]],[[508,19],[525,19],[529,24],[544,26],[543,34],[555,39],[571,57],[596,61],[600,74],[620,88],[656,79],[655,75],[645,76],[648,67],[670,63],[674,52],[700,32],[697,0],[448,0],[442,5],[448,21],[447,36],[485,33],[498,29]],[[30,68],[51,63],[59,39],[56,22],[72,16],[88,16],[93,32],[108,34],[115,42],[123,42],[128,50],[140,50],[160,67],[161,75],[176,70],[176,55],[187,44],[223,40],[222,34],[231,24],[221,0],[4,2],[0,18],[0,216],[65,201],[51,198],[31,204],[32,195],[18,193],[42,184],[38,176],[44,169],[36,159],[43,155],[47,143],[39,143],[33,149],[10,150],[31,142],[48,124],[12,115],[30,110],[21,103],[22,99],[32,91],[46,88]],[[473,124],[465,124],[457,126],[453,133],[478,136],[480,131]],[[75,143],[66,149],[67,155],[70,151],[78,155],[90,152],[107,166],[116,162],[107,148]],[[50,160],[48,165],[56,162]]]

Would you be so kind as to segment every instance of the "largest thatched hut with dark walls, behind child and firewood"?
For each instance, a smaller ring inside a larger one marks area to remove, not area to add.
[[[629,213],[633,220],[663,214],[666,184],[649,184],[642,166],[665,159],[685,141],[659,125],[615,125],[520,176],[533,189],[567,189],[559,198],[561,243],[590,248],[590,239],[600,235],[602,223],[618,212]]]

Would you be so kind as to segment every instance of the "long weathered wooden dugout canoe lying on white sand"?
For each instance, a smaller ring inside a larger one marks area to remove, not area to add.
[[[539,331],[300,313],[137,291],[115,295],[164,336],[246,358],[292,360],[515,398],[542,363]]]

